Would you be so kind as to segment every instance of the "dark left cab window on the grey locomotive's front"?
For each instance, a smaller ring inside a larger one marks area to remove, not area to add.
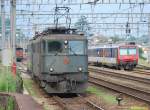
[[[60,41],[48,41],[48,52],[62,52],[62,43]]]

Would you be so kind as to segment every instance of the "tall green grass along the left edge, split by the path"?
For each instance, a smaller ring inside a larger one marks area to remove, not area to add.
[[[13,75],[10,67],[0,68],[0,92],[17,92],[17,83],[19,82],[20,76],[19,73],[17,75]],[[20,82],[19,82],[20,83]],[[14,99],[12,97],[8,97],[7,106],[3,107],[0,105],[0,110],[13,110],[14,109]]]

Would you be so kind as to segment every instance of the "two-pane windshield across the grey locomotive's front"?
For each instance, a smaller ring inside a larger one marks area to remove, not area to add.
[[[55,55],[84,55],[86,53],[85,44],[86,41],[47,41],[47,52]],[[43,50],[45,50],[45,44],[43,42]]]

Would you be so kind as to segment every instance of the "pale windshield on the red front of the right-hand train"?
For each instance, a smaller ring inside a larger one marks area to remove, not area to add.
[[[136,55],[136,48],[120,48],[120,55]]]

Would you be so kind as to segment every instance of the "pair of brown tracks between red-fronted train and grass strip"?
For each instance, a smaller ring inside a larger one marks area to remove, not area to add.
[[[90,83],[99,86],[104,86],[106,88],[133,96],[135,98],[150,103],[149,78],[136,77],[133,75],[126,75],[123,73],[119,74],[114,71],[103,71],[102,69],[94,69],[91,67],[89,68],[89,71],[93,73],[91,73],[89,76]],[[140,83],[141,86],[139,86]]]

